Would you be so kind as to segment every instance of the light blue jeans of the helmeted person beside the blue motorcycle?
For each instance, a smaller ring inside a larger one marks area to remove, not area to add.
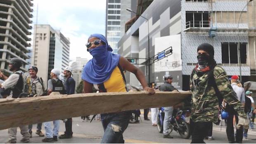
[[[170,128],[169,125],[170,125],[172,116],[173,116],[173,107],[164,107],[164,124],[163,124],[164,135],[168,135],[168,129]]]

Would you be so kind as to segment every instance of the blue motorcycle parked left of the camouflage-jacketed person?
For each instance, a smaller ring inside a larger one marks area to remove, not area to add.
[[[171,121],[169,123],[168,135],[175,130],[180,134],[183,139],[189,139],[191,135],[190,126],[190,111],[174,109]],[[157,128],[160,133],[164,128],[164,107],[159,108],[159,114],[157,116]]]

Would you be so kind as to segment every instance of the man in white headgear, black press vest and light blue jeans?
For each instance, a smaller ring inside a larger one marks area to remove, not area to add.
[[[65,94],[65,88],[62,81],[58,78],[60,71],[58,69],[52,69],[50,73],[51,79],[48,80],[47,94],[50,95],[52,92],[59,92]],[[54,128],[52,130],[51,121],[45,122],[45,135],[42,142],[55,142],[58,141],[59,135],[59,120],[53,121]]]

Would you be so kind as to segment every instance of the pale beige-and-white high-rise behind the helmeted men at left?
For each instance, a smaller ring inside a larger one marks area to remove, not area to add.
[[[69,39],[50,25],[35,25],[31,64],[38,67],[38,76],[44,81],[50,79],[53,68],[63,72],[69,65],[69,44]]]

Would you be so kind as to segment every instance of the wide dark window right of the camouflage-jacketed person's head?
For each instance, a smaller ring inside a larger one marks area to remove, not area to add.
[[[240,61],[246,64],[247,60],[247,43],[239,43]],[[238,43],[223,42],[221,43],[222,63],[239,63]]]

